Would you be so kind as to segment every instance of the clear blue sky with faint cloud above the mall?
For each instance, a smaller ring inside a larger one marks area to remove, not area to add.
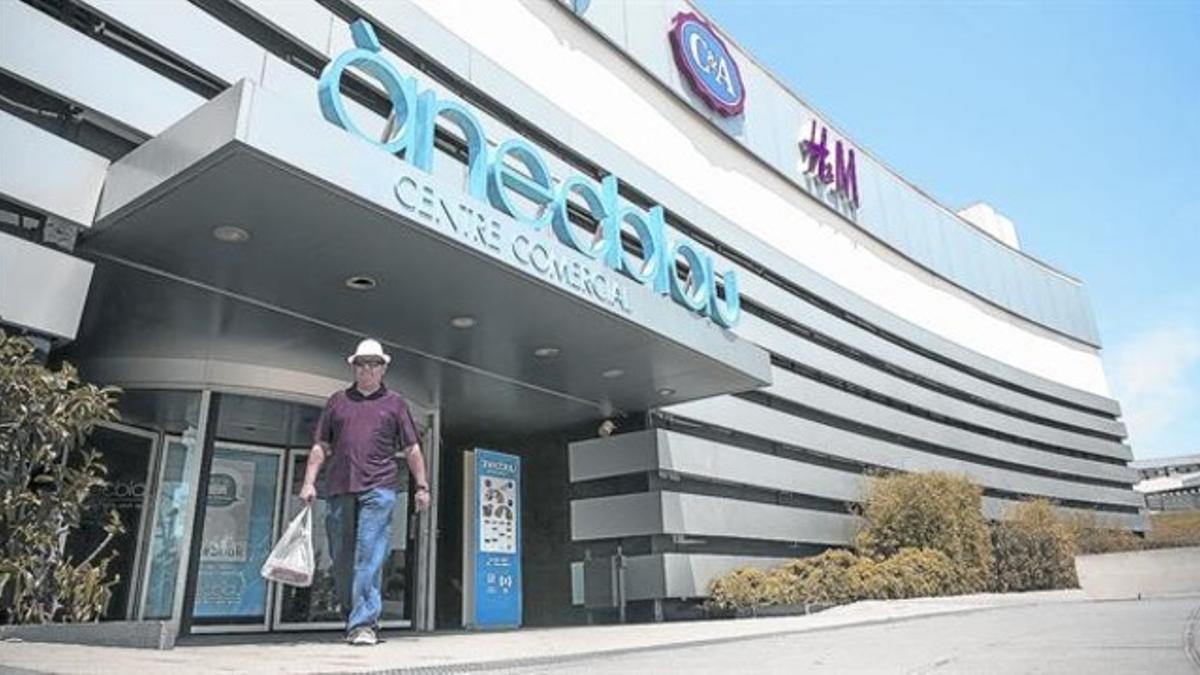
[[[696,1],[857,145],[1081,279],[1134,459],[1200,453],[1200,0]]]

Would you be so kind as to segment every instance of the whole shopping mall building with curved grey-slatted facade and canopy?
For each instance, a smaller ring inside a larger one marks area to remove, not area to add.
[[[434,486],[390,626],[479,591],[475,448],[524,625],[691,615],[877,472],[1142,530],[1084,285],[848,131],[685,0],[0,2],[0,321],[125,392],[108,616],[337,625],[320,518],[311,589],[258,566],[365,335]]]

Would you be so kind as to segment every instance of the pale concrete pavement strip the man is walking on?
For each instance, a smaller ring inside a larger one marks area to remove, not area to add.
[[[869,601],[810,616],[658,625],[527,628],[504,633],[385,634],[374,647],[350,647],[330,635],[272,637],[262,643],[197,645],[172,651],[0,643],[0,670],[42,673],[454,673],[550,665],[596,655],[629,655],[677,645],[712,645],[913,617],[995,608],[1082,603],[1080,591]],[[1198,599],[1200,604],[1200,599]]]

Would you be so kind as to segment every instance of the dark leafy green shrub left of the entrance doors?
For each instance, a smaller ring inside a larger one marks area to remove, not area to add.
[[[29,340],[0,330],[0,623],[92,621],[108,604],[116,510],[83,560],[65,542],[104,484],[88,434],[115,418],[115,393],[80,383],[70,364],[44,368]]]

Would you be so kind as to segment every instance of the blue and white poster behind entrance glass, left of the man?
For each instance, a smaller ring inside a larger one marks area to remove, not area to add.
[[[280,458],[216,449],[196,581],[194,616],[245,617],[266,613],[266,581],[258,571],[274,544]]]

